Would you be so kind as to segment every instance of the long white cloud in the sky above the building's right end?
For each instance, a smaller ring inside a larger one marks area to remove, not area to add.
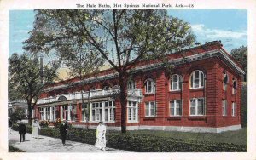
[[[203,24],[191,25],[192,30],[197,36],[204,36],[209,39],[241,39],[247,38],[247,31],[231,31],[231,30],[220,30],[220,29],[209,29]]]

